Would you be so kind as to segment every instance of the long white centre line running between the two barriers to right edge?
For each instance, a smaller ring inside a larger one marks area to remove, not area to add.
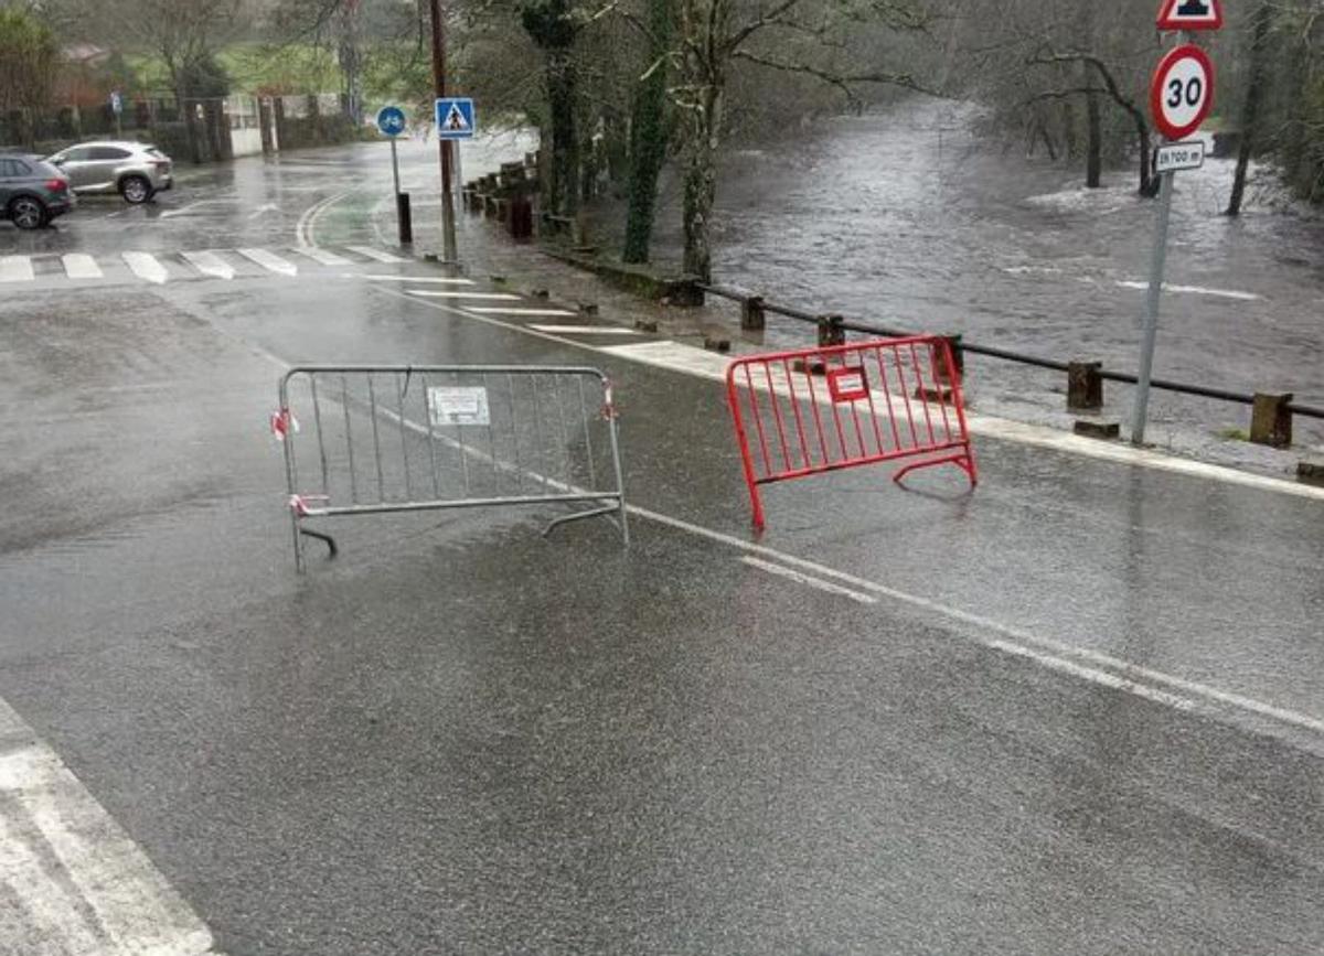
[[[444,309],[446,309],[446,311],[458,311],[449,307]],[[287,363],[282,360],[277,361],[279,365],[289,368]],[[380,413],[392,422],[402,424],[414,434],[429,437],[429,430],[416,421],[410,421],[409,418],[401,420],[400,416],[387,408],[380,409]],[[446,444],[453,442],[450,438],[437,436],[432,437]],[[491,462],[489,455],[477,449],[473,449],[471,453],[475,458]],[[542,482],[559,491],[576,494],[585,493],[584,489],[568,485],[555,478],[547,478],[545,475],[540,475],[531,469],[508,463],[503,463],[503,466],[519,470],[535,482]],[[1262,718],[1282,727],[1309,731],[1311,734],[1324,738],[1324,720],[1308,714],[1301,714],[1300,711],[1278,707],[1242,694],[1219,690],[1197,681],[1188,681],[1165,671],[1135,665],[1129,661],[1112,657],[1111,654],[1063,644],[1051,638],[1038,637],[1026,630],[1021,630],[1019,628],[1013,628],[992,618],[981,617],[980,614],[960,610],[959,608],[952,608],[945,604],[939,604],[937,601],[932,601],[927,597],[898,591],[896,588],[890,588],[886,584],[870,581],[845,571],[837,571],[835,568],[820,564],[818,561],[796,557],[794,555],[784,551],[769,548],[763,544],[755,544],[741,538],[736,538],[735,535],[728,535],[723,531],[716,531],[702,524],[694,524],[692,522],[687,522],[681,518],[673,518],[638,504],[626,504],[625,510],[637,518],[643,518],[645,520],[655,522],[698,538],[704,538],[718,544],[736,548],[745,552],[745,555],[767,559],[769,561],[779,563],[780,565],[789,565],[792,569],[798,568],[808,572],[810,576],[820,579],[833,579],[843,585],[849,585],[849,589],[886,597],[894,602],[906,604],[941,618],[947,618],[948,621],[965,625],[957,633],[967,640],[992,650],[1031,661],[1047,670],[1068,674],[1088,683],[1119,690],[1180,711],[1198,711],[1217,719],[1226,718],[1229,711],[1241,712],[1243,715]],[[994,637],[994,634],[998,637]]]

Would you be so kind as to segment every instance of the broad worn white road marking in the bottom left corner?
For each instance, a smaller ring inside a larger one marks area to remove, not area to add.
[[[201,956],[212,933],[128,834],[0,700],[0,916],[15,953]]]

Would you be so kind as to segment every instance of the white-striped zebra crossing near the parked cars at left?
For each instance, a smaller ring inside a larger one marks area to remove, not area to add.
[[[181,252],[127,250],[91,256],[87,253],[46,253],[0,256],[0,289],[24,285],[46,287],[52,283],[91,286],[105,283],[187,282],[192,279],[233,281],[263,275],[294,278],[324,274],[328,269],[363,265],[400,265],[409,260],[373,246],[298,246],[289,249],[193,249]]]

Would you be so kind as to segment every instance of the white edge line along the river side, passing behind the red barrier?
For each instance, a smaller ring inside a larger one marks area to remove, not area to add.
[[[389,289],[381,289],[379,291],[384,295],[395,295],[401,299],[412,298]],[[569,346],[571,348],[580,348],[587,352],[614,355],[629,361],[638,361],[645,365],[666,368],[671,372],[694,375],[700,379],[726,381],[727,365],[731,364],[731,359],[723,358],[715,352],[692,348],[691,346],[682,346],[670,340],[639,342],[624,346],[597,346],[589,342],[579,342],[576,339],[552,335],[551,332],[544,332],[530,326],[520,326],[515,322],[502,322],[500,319],[490,315],[475,315],[475,312],[500,312],[502,310],[482,310],[473,306],[453,309],[441,302],[426,302],[420,299],[413,301],[432,309],[450,312],[451,315],[482,322],[489,326],[495,326],[496,328],[506,328],[535,339],[545,339],[547,342]],[[1222,465],[1209,465],[1206,462],[1193,461],[1189,458],[1176,458],[1173,455],[1165,455],[1160,452],[1137,449],[1131,445],[1113,445],[1095,438],[1084,438],[1082,436],[1072,434],[1071,432],[1043,428],[1041,425],[1027,425],[1009,418],[994,418],[992,416],[967,413],[967,421],[973,434],[986,436],[989,438],[1047,448],[1054,452],[1062,452],[1063,454],[1080,455],[1082,458],[1099,458],[1102,461],[1111,461],[1119,465],[1137,465],[1140,467],[1153,469],[1155,471],[1169,471],[1188,478],[1204,478],[1207,481],[1225,482],[1227,485],[1241,485],[1259,491],[1272,491],[1276,494],[1294,495],[1296,498],[1324,501],[1324,489],[1301,485],[1300,482],[1270,478],[1267,475],[1251,474],[1250,471],[1238,471],[1235,469],[1223,467]]]

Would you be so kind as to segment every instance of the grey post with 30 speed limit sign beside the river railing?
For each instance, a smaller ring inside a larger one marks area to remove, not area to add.
[[[1218,0],[1164,0],[1158,29],[1218,29],[1222,11]],[[1149,291],[1145,297],[1144,340],[1140,346],[1140,373],[1131,441],[1144,445],[1149,417],[1149,383],[1153,380],[1155,342],[1158,336],[1158,306],[1168,263],[1168,224],[1172,220],[1173,175],[1177,169],[1198,168],[1205,162],[1202,143],[1181,143],[1200,128],[1214,105],[1214,65],[1201,48],[1182,44],[1158,61],[1149,83],[1149,109],[1155,128],[1168,140],[1155,151],[1158,176],[1158,211],[1155,218],[1155,248],[1149,262]]]

